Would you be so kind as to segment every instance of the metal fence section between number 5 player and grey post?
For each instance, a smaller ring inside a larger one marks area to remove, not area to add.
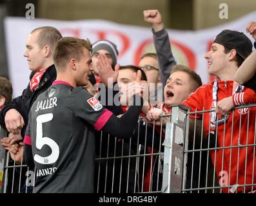
[[[161,192],[162,126],[139,118],[132,138],[96,137],[95,192]]]

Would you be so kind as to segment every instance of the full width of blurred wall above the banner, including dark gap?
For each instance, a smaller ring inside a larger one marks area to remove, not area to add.
[[[219,5],[228,5],[228,19],[220,19]],[[167,28],[199,30],[226,23],[256,10],[256,0],[38,0],[36,17],[48,19],[106,19],[149,26],[143,10],[161,11]]]

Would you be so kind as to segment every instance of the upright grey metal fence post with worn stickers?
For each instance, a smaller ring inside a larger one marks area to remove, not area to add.
[[[171,122],[166,124],[164,138],[164,169],[162,175],[162,192],[181,193],[184,135],[187,107],[172,108]]]

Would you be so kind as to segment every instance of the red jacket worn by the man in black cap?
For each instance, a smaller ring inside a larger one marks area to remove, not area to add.
[[[232,95],[233,81],[220,81],[217,100],[230,97]],[[212,109],[213,102],[213,82],[204,84],[198,88],[182,104],[189,106],[190,111],[203,111]],[[235,105],[250,104],[256,102],[256,94],[253,90],[244,88],[241,93],[233,95]],[[250,111],[250,115],[248,115]],[[255,108],[235,109],[233,114],[226,121],[226,124],[219,124],[217,127],[217,147],[230,147],[239,144],[255,144]],[[199,113],[196,118],[204,119],[204,133],[206,138],[209,134],[210,113]],[[219,114],[219,118],[221,118]],[[250,117],[249,117],[250,116]],[[195,115],[191,115],[195,118]],[[213,129],[211,129],[213,130]],[[233,130],[233,131],[232,131]],[[248,136],[248,138],[247,138]],[[240,147],[233,149],[217,149],[210,151],[215,171],[219,178],[219,184],[222,186],[243,185],[244,183],[256,183],[256,153],[253,153],[253,147]],[[223,160],[222,160],[223,158]],[[254,159],[253,159],[254,158]],[[253,173],[254,162],[254,173]],[[252,182],[253,181],[253,182]],[[256,186],[253,187],[256,189]],[[237,188],[238,192],[243,192],[242,187]],[[251,187],[246,187],[246,192],[250,192]],[[222,192],[228,192],[228,188],[222,189]]]

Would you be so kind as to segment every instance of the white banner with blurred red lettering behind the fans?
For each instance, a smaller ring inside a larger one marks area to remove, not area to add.
[[[246,24],[255,21],[255,19],[256,12],[253,12],[230,23],[204,30],[168,29],[173,55],[179,64],[185,64],[197,71],[201,75],[202,82],[206,83],[212,80],[212,77],[208,75],[204,54],[210,50],[215,36],[224,29],[246,33]],[[7,17],[5,19],[5,39],[8,72],[14,88],[14,97],[21,95],[23,89],[28,85],[30,70],[23,54],[26,50],[28,35],[34,28],[40,26],[54,26],[63,36],[88,38],[92,43],[99,39],[113,41],[117,44],[118,62],[121,65],[137,65],[143,53],[154,52],[155,50],[150,27],[129,26],[103,20],[54,21]],[[253,42],[251,37],[250,39]]]

